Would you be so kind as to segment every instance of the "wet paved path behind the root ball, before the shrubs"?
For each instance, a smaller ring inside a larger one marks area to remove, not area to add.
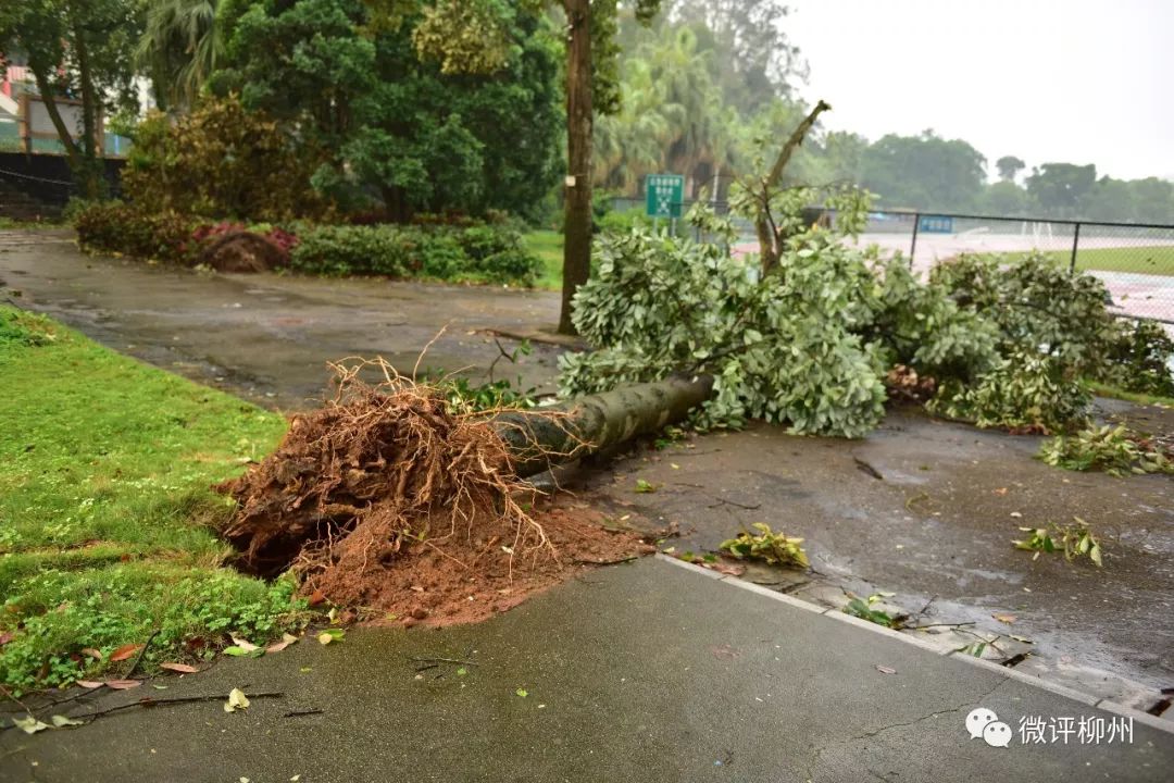
[[[301,410],[332,392],[328,362],[383,356],[411,373],[484,379],[500,356],[483,329],[558,322],[559,296],[495,286],[295,275],[218,275],[86,256],[68,234],[0,231],[0,292],[104,345],[269,407]],[[538,345],[497,377],[545,387],[555,350]]]

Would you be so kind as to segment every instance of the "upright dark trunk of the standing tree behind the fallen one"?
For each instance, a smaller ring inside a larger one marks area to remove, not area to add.
[[[592,65],[591,0],[564,0],[567,25],[567,158],[569,162],[562,245],[562,311],[559,331],[575,332],[571,298],[591,275]]]

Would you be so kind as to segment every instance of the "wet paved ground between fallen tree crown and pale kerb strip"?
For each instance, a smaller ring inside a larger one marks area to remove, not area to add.
[[[1034,459],[1040,440],[892,410],[858,441],[753,426],[642,447],[561,482],[613,519],[675,527],[663,546],[679,555],[767,522],[804,538],[815,572],[748,579],[824,607],[845,590],[896,593],[890,614],[973,623],[919,634],[944,649],[990,640],[985,657],[1024,653],[1025,670],[1148,709],[1174,686],[1174,480],[1060,471]],[[637,479],[659,490],[636,493]],[[1104,568],[1011,544],[1020,527],[1075,517],[1102,538]]]

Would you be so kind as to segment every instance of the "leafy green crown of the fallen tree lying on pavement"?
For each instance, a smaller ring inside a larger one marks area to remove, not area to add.
[[[751,261],[716,245],[641,229],[602,235],[574,310],[595,350],[560,357],[560,392],[704,372],[716,392],[701,426],[756,418],[855,438],[882,419],[883,379],[904,365],[935,380],[938,413],[1062,431],[1084,420],[1078,379],[1119,373],[1113,347],[1140,339],[1107,312],[1099,281],[1044,255],[963,257],[923,282],[900,256],[843,239],[841,229],[796,232],[778,269],[756,281]],[[1169,357],[1153,343],[1133,355],[1155,365]]]

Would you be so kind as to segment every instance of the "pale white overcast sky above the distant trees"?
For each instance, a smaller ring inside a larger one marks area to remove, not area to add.
[[[1174,178],[1174,0],[791,0],[799,94],[870,141],[933,128],[991,169]]]

